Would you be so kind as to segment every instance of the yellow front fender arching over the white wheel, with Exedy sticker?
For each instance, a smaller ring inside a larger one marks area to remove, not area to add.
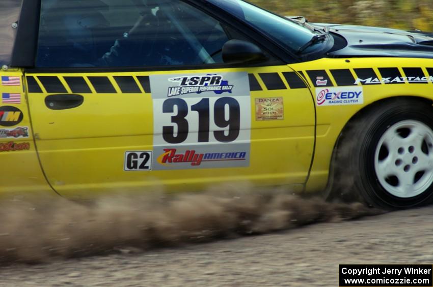
[[[422,68],[424,76],[429,78],[426,68],[433,67],[432,59],[416,58],[349,58],[329,59],[323,58],[315,61],[291,65],[296,71],[325,69],[336,86],[336,81],[329,72],[332,69],[349,69],[356,76],[354,69],[373,68],[378,78],[383,77],[378,68],[398,68],[402,77],[405,77],[402,68]],[[307,77],[308,78],[308,77]],[[356,78],[356,77],[355,77]],[[308,79],[312,86],[311,79]],[[358,84],[361,86],[361,83]],[[331,165],[332,151],[338,136],[349,119],[358,111],[377,101],[392,97],[411,96],[425,99],[433,99],[433,82],[404,83],[374,85],[362,85],[364,91],[364,103],[362,105],[347,106],[323,106],[316,107],[317,113],[317,138],[314,162],[310,178],[306,185],[307,192],[322,190],[328,182]],[[314,93],[314,91],[313,91]],[[433,112],[433,110],[432,110]]]

